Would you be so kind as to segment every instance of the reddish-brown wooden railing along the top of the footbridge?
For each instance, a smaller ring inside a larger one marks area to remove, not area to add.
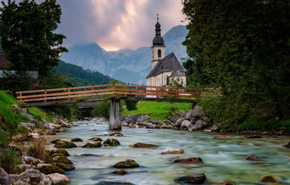
[[[221,96],[220,88],[176,88],[126,84],[106,84],[83,87],[45,89],[16,92],[19,103],[71,100],[72,98],[93,98],[98,96],[146,96],[156,98],[203,98]]]

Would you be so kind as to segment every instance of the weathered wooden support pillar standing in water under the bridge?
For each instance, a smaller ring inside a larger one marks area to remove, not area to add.
[[[120,99],[112,99],[110,102],[109,129],[122,130]]]

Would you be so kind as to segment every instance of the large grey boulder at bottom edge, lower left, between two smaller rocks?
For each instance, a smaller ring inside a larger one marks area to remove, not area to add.
[[[14,185],[52,185],[51,179],[39,170],[29,169],[20,175],[10,175]]]

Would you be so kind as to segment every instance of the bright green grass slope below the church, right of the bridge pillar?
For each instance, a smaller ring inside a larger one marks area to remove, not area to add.
[[[148,114],[150,117],[148,119],[167,119],[168,113],[171,106],[176,106],[178,108],[177,112],[189,111],[190,103],[169,103],[169,102],[151,102],[151,101],[141,101],[137,103],[138,110],[128,111],[125,109],[122,111],[122,115],[133,114]]]

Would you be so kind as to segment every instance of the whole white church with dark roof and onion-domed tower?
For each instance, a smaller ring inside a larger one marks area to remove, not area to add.
[[[157,15],[158,16],[158,15]],[[152,49],[152,70],[146,77],[147,86],[168,86],[170,78],[175,76],[181,78],[186,86],[186,74],[178,59],[172,52],[165,56],[164,40],[161,37],[161,25],[155,24],[155,37],[153,38]]]

